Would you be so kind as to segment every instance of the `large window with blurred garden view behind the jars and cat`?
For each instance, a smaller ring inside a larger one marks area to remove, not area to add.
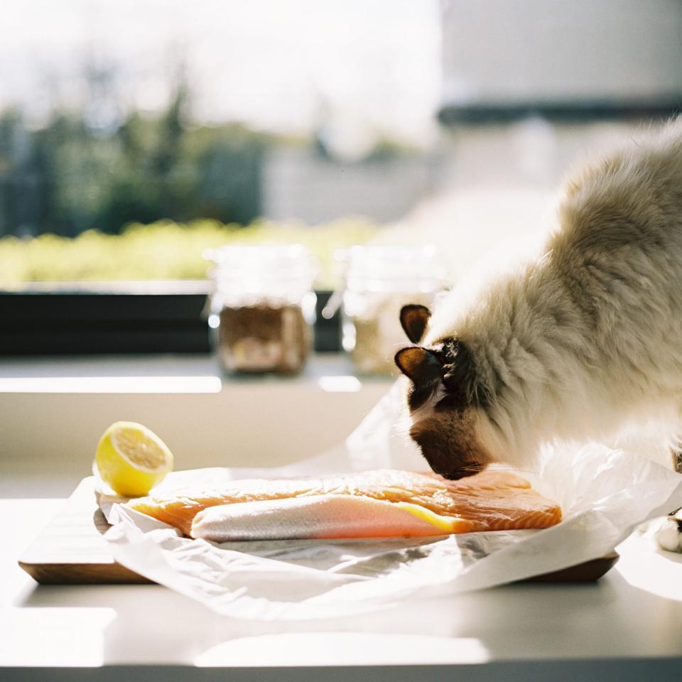
[[[7,0],[0,352],[206,350],[202,253],[234,241],[306,244],[318,310],[354,244],[437,244],[456,281],[676,111],[681,29],[665,0]]]

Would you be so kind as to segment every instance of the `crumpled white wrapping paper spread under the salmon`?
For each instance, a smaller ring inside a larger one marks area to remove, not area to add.
[[[278,469],[175,472],[162,487],[237,478],[321,475],[395,467],[424,470],[416,446],[396,433],[397,384],[345,443]],[[636,453],[590,444],[548,449],[534,487],[561,504],[564,520],[543,530],[494,531],[412,540],[210,543],[103,497],[116,561],[235,618],[319,619],[357,615],[455,594],[604,556],[635,526],[682,505],[682,477]]]

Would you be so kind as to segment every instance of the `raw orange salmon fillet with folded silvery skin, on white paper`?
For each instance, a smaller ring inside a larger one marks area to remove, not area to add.
[[[458,481],[432,472],[374,470],[310,479],[249,479],[127,506],[186,536],[224,542],[289,538],[420,537],[547,528],[561,508],[512,472]]]

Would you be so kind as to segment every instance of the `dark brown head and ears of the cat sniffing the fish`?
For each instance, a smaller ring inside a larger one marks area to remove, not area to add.
[[[395,361],[410,379],[406,401],[411,438],[436,473],[459,479],[482,471],[493,460],[484,437],[488,396],[461,340],[419,345],[430,317],[423,305],[402,308],[400,322],[413,345],[399,350]]]

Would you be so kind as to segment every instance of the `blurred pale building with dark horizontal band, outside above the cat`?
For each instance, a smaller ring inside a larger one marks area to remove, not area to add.
[[[448,188],[554,188],[682,110],[678,0],[450,0],[442,36]]]

